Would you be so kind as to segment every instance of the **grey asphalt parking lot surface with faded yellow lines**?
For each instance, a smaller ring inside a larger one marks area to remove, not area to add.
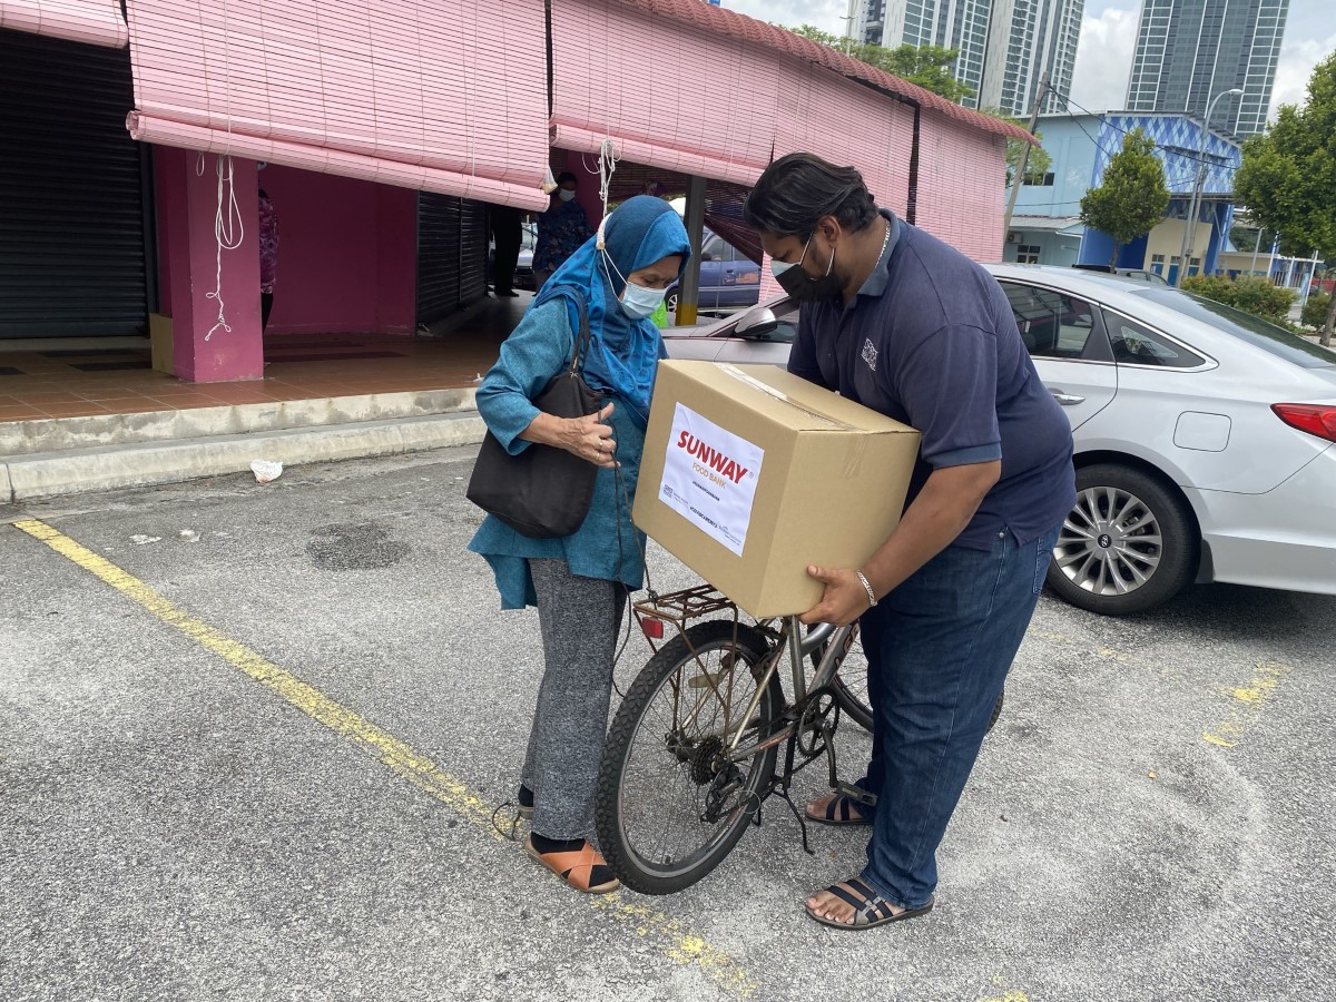
[[[926,919],[806,919],[863,843],[779,803],[588,898],[490,824],[540,647],[465,553],[473,454],[0,508],[0,998],[1331,997],[1336,599],[1045,597]]]

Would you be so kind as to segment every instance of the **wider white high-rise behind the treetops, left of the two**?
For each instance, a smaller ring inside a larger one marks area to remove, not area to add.
[[[1085,0],[859,0],[855,33],[959,49],[953,76],[975,92],[965,104],[1029,115],[1045,72],[1059,94],[1070,88],[1083,11]],[[1047,95],[1041,111],[1061,107]]]

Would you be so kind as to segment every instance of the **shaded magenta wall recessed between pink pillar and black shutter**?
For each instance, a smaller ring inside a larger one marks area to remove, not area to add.
[[[259,174],[278,216],[269,334],[411,334],[417,192],[273,164]]]

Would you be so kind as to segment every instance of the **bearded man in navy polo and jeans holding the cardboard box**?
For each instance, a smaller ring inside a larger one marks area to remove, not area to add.
[[[899,526],[862,568],[808,568],[826,591],[803,616],[860,621],[874,713],[863,794],[807,807],[870,824],[867,866],[807,914],[868,929],[933,907],[937,847],[1075,502],[1071,432],[993,277],[878,210],[856,170],[791,154],[743,211],[803,303],[790,371],[922,434]]]

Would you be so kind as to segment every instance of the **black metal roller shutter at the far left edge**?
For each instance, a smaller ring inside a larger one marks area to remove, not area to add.
[[[0,338],[143,334],[144,154],[126,49],[0,29]]]

